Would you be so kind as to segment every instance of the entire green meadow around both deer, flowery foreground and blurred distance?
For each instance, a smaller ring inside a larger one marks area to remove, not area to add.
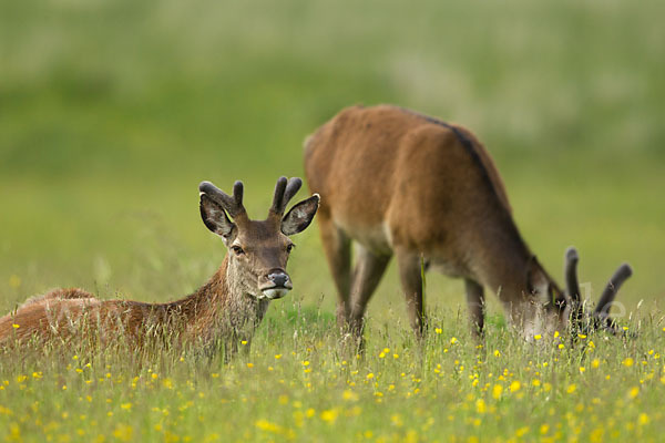
[[[55,287],[192,292],[225,254],[201,181],[243,179],[260,217],[280,175],[303,176],[307,134],[344,106],[395,103],[479,136],[559,281],[570,245],[594,300],[631,262],[618,321],[638,334],[525,344],[488,296],[478,343],[461,281],[429,274],[420,346],[391,265],[357,358],[339,346],[315,223],[294,237],[294,290],[228,364],[0,352],[0,440],[662,440],[663,13],[651,0],[0,2],[0,315]]]

